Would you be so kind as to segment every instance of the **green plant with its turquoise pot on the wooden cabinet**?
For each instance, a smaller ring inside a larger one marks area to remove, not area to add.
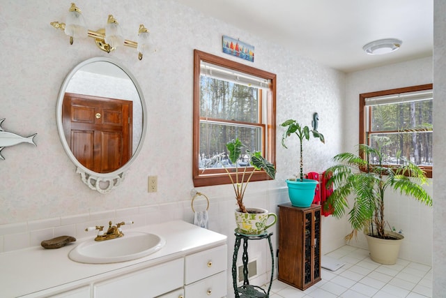
[[[317,113],[315,113],[317,117]],[[298,123],[298,121],[293,119],[288,119],[284,121],[284,123],[280,124],[281,126],[286,127],[286,131],[284,135],[282,135],[282,146],[285,148],[285,140],[291,135],[296,135],[300,144],[300,174],[296,179],[287,179],[286,184],[288,185],[288,195],[291,201],[291,204],[295,207],[309,207],[311,206],[314,200],[314,191],[318,184],[318,181],[312,179],[304,179],[303,173],[303,154],[302,154],[302,143],[304,140],[309,140],[312,135],[314,138],[321,140],[321,142],[325,143],[325,138],[322,133],[317,131],[317,118],[315,117],[313,122],[313,129],[310,130],[308,126],[302,126]]]

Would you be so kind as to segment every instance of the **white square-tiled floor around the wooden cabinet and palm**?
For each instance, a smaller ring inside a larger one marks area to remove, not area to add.
[[[337,271],[323,269],[322,281],[305,291],[275,280],[270,298],[432,297],[430,266],[400,259],[395,265],[380,265],[369,258],[369,251],[353,246],[327,255],[346,265]]]

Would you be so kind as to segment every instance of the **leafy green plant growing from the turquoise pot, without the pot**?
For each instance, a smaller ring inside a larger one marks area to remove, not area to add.
[[[304,179],[304,173],[303,173],[304,162],[303,162],[303,154],[302,154],[302,142],[304,140],[307,140],[307,141],[309,140],[310,132],[312,133],[313,137],[318,138],[323,143],[325,143],[325,138],[323,137],[322,133],[319,133],[316,130],[317,124],[315,124],[314,129],[312,129],[311,131],[308,126],[302,126],[298,123],[298,121],[293,120],[293,119],[288,119],[280,125],[286,127],[286,131],[285,131],[284,135],[282,135],[282,146],[285,147],[286,149],[288,149],[288,147],[286,147],[286,144],[285,144],[286,138],[290,137],[292,134],[295,134],[298,136],[298,139],[300,142],[300,176],[299,177],[300,177],[300,181],[303,181],[303,179]]]

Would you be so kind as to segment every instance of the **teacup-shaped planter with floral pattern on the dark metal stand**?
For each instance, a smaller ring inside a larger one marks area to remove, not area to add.
[[[277,221],[274,213],[268,213],[268,210],[261,208],[247,208],[248,213],[240,212],[236,209],[237,232],[240,234],[258,235],[266,231]],[[268,218],[272,221],[268,223]]]

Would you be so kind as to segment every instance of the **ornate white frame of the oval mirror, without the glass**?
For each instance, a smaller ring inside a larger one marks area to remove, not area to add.
[[[78,70],[83,68],[84,66],[89,66],[89,64],[93,64],[96,62],[108,62],[109,64],[112,64],[113,66],[116,66],[117,68],[120,68],[125,75],[128,75],[130,80],[132,80],[134,87],[137,90],[137,93],[139,95],[139,100],[141,103],[141,110],[142,110],[142,131],[141,131],[141,137],[139,139],[139,143],[137,145],[137,149],[132,154],[132,157],[130,160],[125,163],[122,167],[118,168],[117,170],[114,170],[113,172],[109,173],[98,173],[94,172],[93,170],[90,170],[89,168],[85,167],[80,163],[75,155],[72,153],[70,146],[66,140],[65,133],[63,131],[63,121],[62,121],[62,107],[63,107],[63,98],[66,93],[66,89],[68,87],[68,84],[70,84],[70,80],[72,79],[73,75],[77,73]],[[144,96],[141,91],[141,87],[139,87],[139,84],[136,80],[136,78],[130,73],[130,71],[119,64],[118,62],[114,61],[113,59],[109,59],[106,57],[95,57],[91,59],[87,59],[77,66],[73,68],[70,73],[68,73],[66,79],[63,81],[63,84],[61,86],[61,89],[59,91],[59,98],[57,100],[56,105],[56,121],[57,121],[57,130],[59,131],[59,137],[61,139],[61,143],[63,146],[63,149],[66,151],[66,154],[68,154],[68,157],[74,163],[77,167],[76,172],[80,174],[82,181],[84,184],[89,186],[89,188],[98,191],[99,193],[108,193],[109,191],[112,191],[112,189],[116,188],[121,184],[121,182],[125,179],[125,175],[130,167],[130,165],[133,163],[133,161],[137,158],[139,151],[141,151],[142,144],[144,144],[144,138],[146,135],[146,126],[147,126],[147,111],[146,111],[146,103],[144,100]]]

